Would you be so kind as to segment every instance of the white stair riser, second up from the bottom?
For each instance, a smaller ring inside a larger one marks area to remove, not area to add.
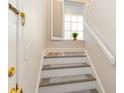
[[[42,70],[41,78],[79,75],[79,74],[92,74],[92,73],[93,72],[90,67]]]

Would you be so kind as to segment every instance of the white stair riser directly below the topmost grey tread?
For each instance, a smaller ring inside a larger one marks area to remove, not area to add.
[[[43,64],[86,63],[87,61],[86,57],[45,58]]]

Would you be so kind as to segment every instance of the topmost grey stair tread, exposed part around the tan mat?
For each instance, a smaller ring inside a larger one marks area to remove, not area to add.
[[[48,55],[44,58],[86,57],[84,52],[63,52],[63,55]]]

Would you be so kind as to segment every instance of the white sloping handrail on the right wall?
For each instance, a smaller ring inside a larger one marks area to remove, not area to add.
[[[100,40],[100,38],[96,35],[96,33],[91,29],[91,27],[84,21],[84,25],[87,27],[90,34],[95,39],[97,45],[100,47],[106,58],[109,60],[109,62],[112,65],[116,64],[116,58],[113,56],[113,54],[110,52],[110,50],[105,46],[105,44]]]

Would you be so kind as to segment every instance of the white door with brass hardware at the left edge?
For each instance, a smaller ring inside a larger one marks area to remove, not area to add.
[[[16,0],[9,0],[9,4],[17,7]],[[16,71],[13,76],[8,75],[8,91],[16,88],[17,82],[17,17],[17,14],[8,9],[8,69],[14,67]]]

